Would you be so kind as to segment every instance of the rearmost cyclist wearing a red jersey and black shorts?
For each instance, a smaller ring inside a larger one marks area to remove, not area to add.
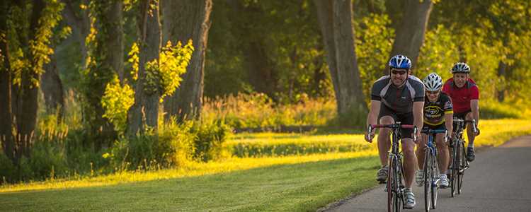
[[[476,83],[469,78],[470,67],[462,62],[458,62],[452,67],[453,78],[446,81],[442,91],[450,95],[454,106],[454,117],[465,120],[476,121],[479,123],[479,88]],[[470,125],[470,124],[468,124]],[[466,127],[466,126],[465,126]],[[467,160],[472,161],[475,158],[474,139],[479,135],[479,129],[476,134],[472,131],[472,126],[467,127],[468,147]]]

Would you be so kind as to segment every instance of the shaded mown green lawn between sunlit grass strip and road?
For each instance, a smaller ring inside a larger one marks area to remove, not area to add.
[[[375,156],[72,189],[0,193],[0,211],[314,211],[374,187]]]

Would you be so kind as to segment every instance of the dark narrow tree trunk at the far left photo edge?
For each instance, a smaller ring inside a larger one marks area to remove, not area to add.
[[[0,35],[5,35],[4,39],[0,39],[0,120],[4,124],[0,124],[0,143],[6,156],[16,163],[15,159],[15,143],[11,129],[13,127],[13,114],[11,110],[11,66],[9,64],[7,33],[7,14],[9,11],[9,4],[7,1],[2,1],[0,5]]]

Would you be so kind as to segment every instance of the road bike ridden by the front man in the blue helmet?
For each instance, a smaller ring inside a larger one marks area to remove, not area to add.
[[[387,211],[399,212],[404,208],[404,169],[402,168],[402,153],[400,151],[400,129],[413,129],[413,141],[416,141],[417,128],[411,124],[369,124],[367,131],[375,128],[392,129],[392,148],[389,151],[389,170],[387,172]]]

